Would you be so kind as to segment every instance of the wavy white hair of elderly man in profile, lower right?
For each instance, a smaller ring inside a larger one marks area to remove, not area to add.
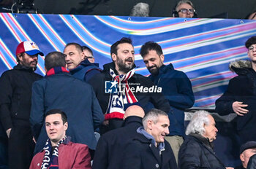
[[[187,125],[186,135],[189,135],[190,133],[203,135],[206,132],[204,125],[209,125],[210,122],[208,115],[208,111],[195,111],[195,114],[192,116],[189,125]]]

